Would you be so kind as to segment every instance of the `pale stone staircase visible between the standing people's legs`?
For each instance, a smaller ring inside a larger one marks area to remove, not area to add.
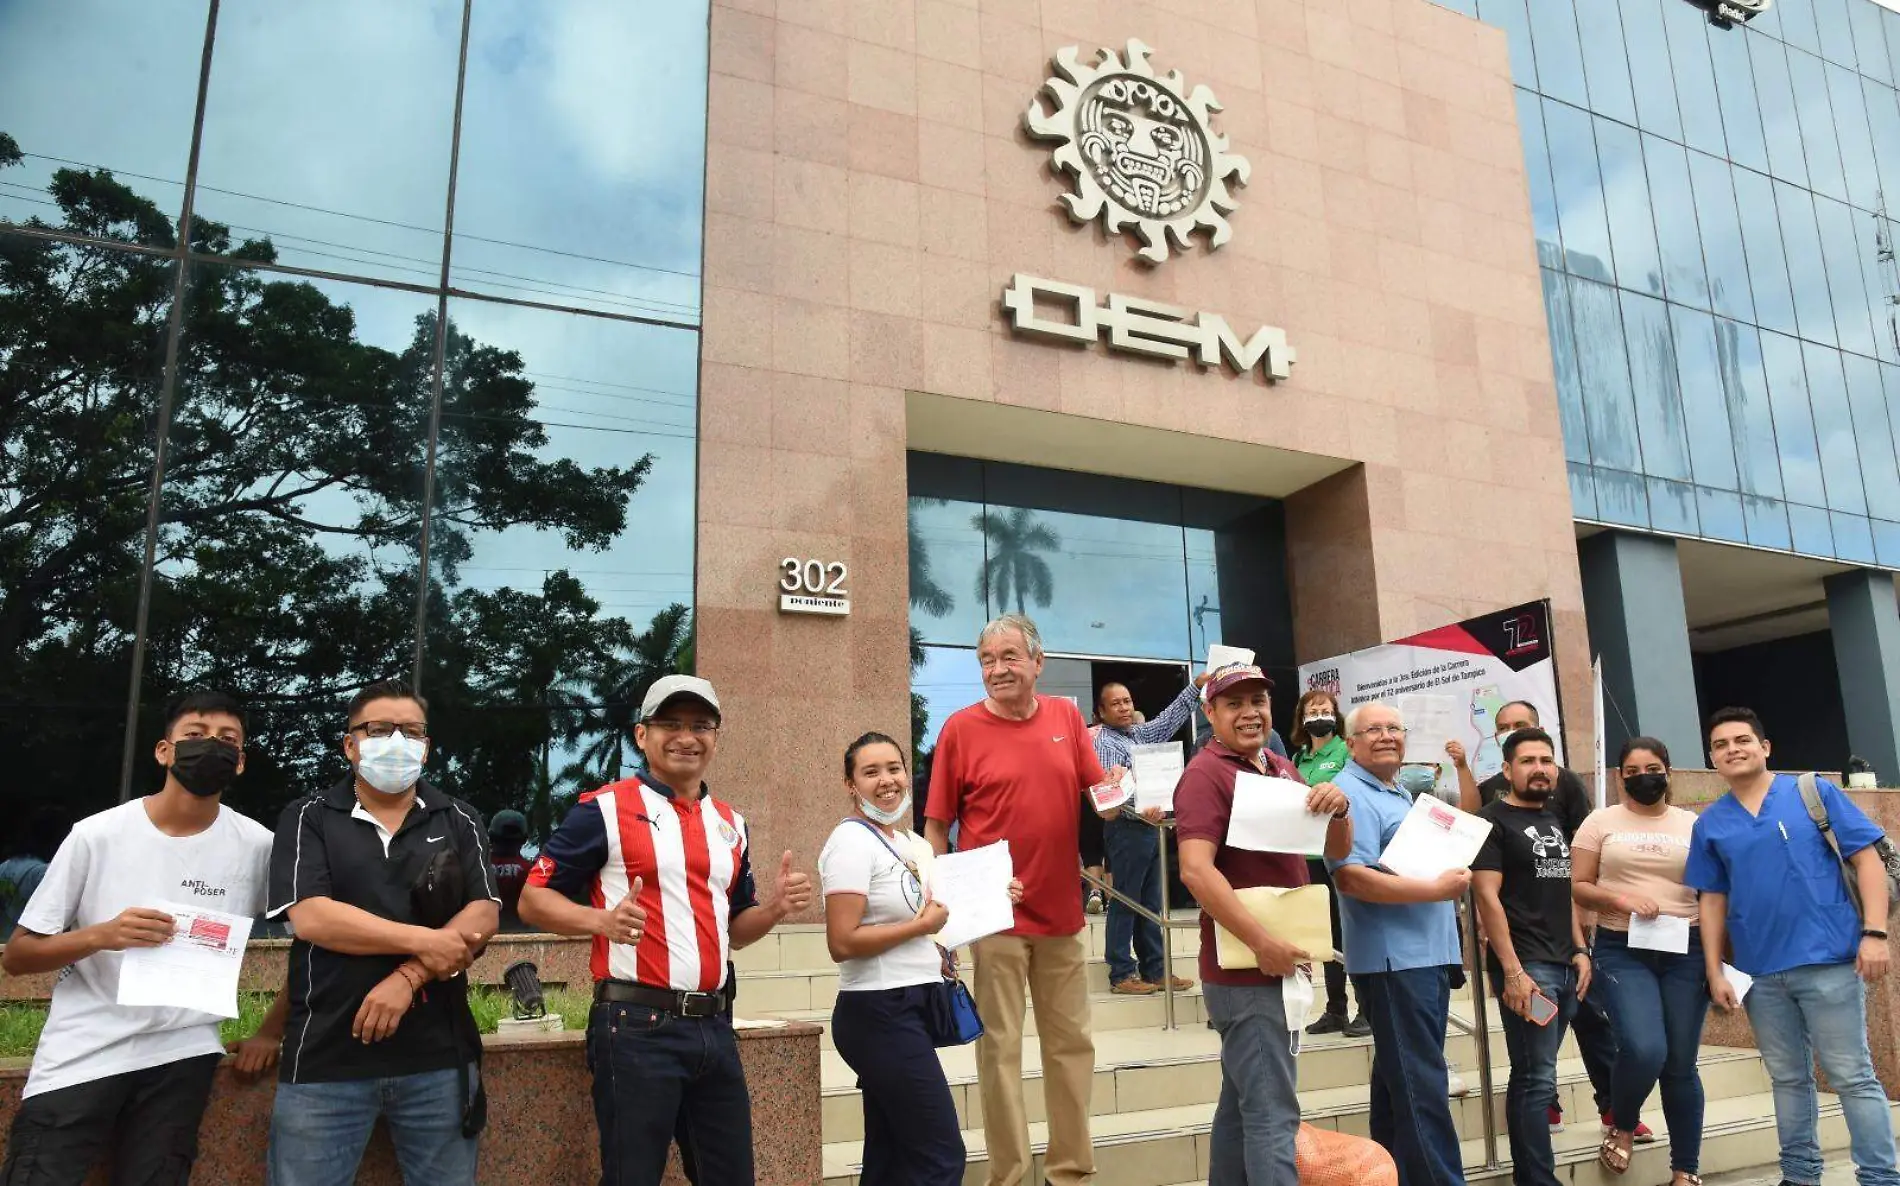
[[[1102,962],[1102,918],[1089,920],[1089,985],[1094,1023],[1092,1137],[1098,1186],[1176,1186],[1206,1176],[1208,1127],[1220,1093],[1220,1043],[1206,1028],[1199,990],[1176,998],[1176,1030],[1163,1026],[1159,996],[1130,998],[1108,992]],[[1195,975],[1191,929],[1172,933],[1176,971]],[[836,969],[825,952],[825,933],[817,926],[781,928],[779,933],[739,952],[739,1015],[785,1017],[826,1023],[838,992]],[[965,960],[967,967],[967,960]],[[1452,1011],[1471,1019],[1469,994],[1452,1002]],[[1448,1028],[1446,1051],[1471,1087],[1471,1095],[1452,1100],[1452,1116],[1465,1146],[1465,1169],[1472,1182],[1509,1182],[1509,1144],[1505,1138],[1505,1078],[1509,1072],[1503,1034],[1492,1009],[1492,1062],[1497,1116],[1499,1165],[1484,1163],[1484,1114],[1478,1106],[1478,1057],[1472,1036]],[[1036,1032],[1036,1011],[1026,1028]],[[857,1186],[863,1152],[863,1112],[855,1076],[832,1051],[830,1036],[823,1051],[823,1127],[825,1186]],[[977,1093],[973,1047],[939,1051],[969,1150],[965,1182],[986,1180],[988,1159],[982,1140],[982,1106]],[[1752,1049],[1702,1047],[1702,1087],[1708,1099],[1702,1127],[1702,1175],[1731,1173],[1775,1161],[1775,1106],[1767,1070]],[[1043,1150],[1041,1053],[1032,1040],[1022,1049],[1024,1104],[1030,1140]],[[1307,1038],[1300,1053],[1300,1104],[1307,1123],[1366,1135],[1366,1080],[1372,1068],[1370,1038]],[[1558,1176],[1577,1186],[1655,1186],[1668,1182],[1668,1137],[1661,1104],[1651,1099],[1644,1119],[1659,1140],[1636,1146],[1630,1173],[1617,1178],[1596,1163],[1598,1123],[1590,1085],[1577,1059],[1575,1040],[1566,1038],[1558,1064],[1558,1097],[1569,1121],[1554,1137]],[[1845,1159],[1847,1127],[1839,1104],[1820,1097],[1820,1140],[1832,1159]],[[1041,1167],[1037,1165],[1037,1171]],[[1773,1169],[1761,1176],[1778,1176]],[[1036,1175],[1039,1180],[1039,1173]]]

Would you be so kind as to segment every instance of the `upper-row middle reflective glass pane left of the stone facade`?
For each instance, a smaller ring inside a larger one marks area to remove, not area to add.
[[[450,0],[222,6],[198,213],[285,264],[433,287],[460,46]]]

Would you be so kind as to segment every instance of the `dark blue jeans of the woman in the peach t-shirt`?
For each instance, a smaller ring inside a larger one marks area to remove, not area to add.
[[[1702,1040],[1702,1019],[1708,1017],[1702,931],[1689,928],[1689,950],[1678,954],[1630,947],[1630,937],[1623,931],[1598,928],[1590,996],[1600,996],[1609,1005],[1609,1021],[1617,1030],[1611,1123],[1634,1133],[1644,1100],[1661,1081],[1670,1169],[1699,1173],[1702,1074],[1695,1066],[1695,1053]]]

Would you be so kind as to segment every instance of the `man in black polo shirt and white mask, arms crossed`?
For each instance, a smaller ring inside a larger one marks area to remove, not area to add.
[[[500,895],[481,817],[422,781],[428,705],[350,701],[352,775],[285,808],[270,914],[289,912],[291,1021],[270,1118],[272,1186],[346,1186],[376,1118],[407,1186],[473,1186],[481,1040],[464,969]]]

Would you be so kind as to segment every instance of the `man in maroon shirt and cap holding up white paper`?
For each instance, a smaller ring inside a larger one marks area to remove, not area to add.
[[[1174,831],[1180,838],[1182,884],[1201,903],[1201,981],[1206,1017],[1220,1032],[1220,1102],[1208,1148],[1208,1182],[1298,1186],[1294,1135],[1300,1099],[1292,1032],[1305,1017],[1286,1017],[1281,981],[1307,964],[1307,952],[1260,926],[1235,890],[1305,886],[1305,859],[1227,846],[1235,779],[1260,774],[1300,781],[1292,762],[1269,751],[1273,680],[1260,667],[1222,667],[1203,690],[1214,739],[1188,762],[1174,787]],[[1353,848],[1345,793],[1320,783],[1307,793],[1307,810],[1332,815],[1326,855],[1343,859]],[[1214,948],[1214,924],[1254,950],[1258,969],[1224,969]],[[1311,967],[1307,969],[1311,977]]]

